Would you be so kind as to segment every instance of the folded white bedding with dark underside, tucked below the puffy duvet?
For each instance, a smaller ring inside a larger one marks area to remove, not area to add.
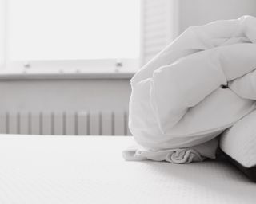
[[[231,163],[256,182],[256,111],[224,131],[219,146]]]

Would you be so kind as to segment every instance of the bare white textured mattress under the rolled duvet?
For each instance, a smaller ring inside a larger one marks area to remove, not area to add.
[[[130,137],[0,136],[0,203],[255,203],[226,163],[126,162]]]

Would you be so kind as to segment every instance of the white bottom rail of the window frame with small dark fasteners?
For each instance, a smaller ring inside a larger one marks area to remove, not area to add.
[[[135,73],[138,59],[7,61],[12,73]]]

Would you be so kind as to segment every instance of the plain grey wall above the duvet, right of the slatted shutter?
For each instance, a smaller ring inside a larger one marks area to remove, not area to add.
[[[256,17],[255,0],[179,0],[180,32],[189,26],[203,25],[242,15]]]

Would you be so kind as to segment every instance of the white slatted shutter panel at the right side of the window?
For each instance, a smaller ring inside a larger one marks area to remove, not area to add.
[[[178,36],[178,0],[142,0],[142,65]]]

